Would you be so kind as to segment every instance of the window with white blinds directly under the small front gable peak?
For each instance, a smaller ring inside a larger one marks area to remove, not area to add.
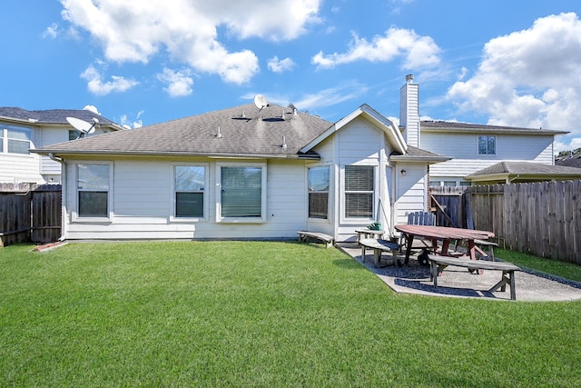
[[[345,218],[373,218],[375,167],[345,166]]]

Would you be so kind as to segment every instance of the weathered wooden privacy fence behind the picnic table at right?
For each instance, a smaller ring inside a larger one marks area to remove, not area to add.
[[[498,244],[513,251],[581,264],[581,180],[443,187],[430,193],[446,204],[450,219],[465,214],[458,227],[494,232]],[[446,222],[438,214],[438,224]]]

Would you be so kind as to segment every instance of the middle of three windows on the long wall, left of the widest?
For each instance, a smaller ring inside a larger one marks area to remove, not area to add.
[[[174,216],[204,217],[206,167],[203,165],[174,165]]]

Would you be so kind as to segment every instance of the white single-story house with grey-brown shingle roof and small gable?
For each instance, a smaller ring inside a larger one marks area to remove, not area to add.
[[[262,99],[259,99],[262,101]],[[428,166],[367,104],[330,123],[243,104],[34,149],[63,168],[63,239],[337,241],[428,207]]]

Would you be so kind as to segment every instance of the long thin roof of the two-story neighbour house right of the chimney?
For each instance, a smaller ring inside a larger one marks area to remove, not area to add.
[[[421,130],[427,132],[453,132],[453,133],[490,133],[490,134],[568,134],[566,131],[550,129],[519,128],[503,125],[484,125],[456,123],[448,121],[421,121]]]

